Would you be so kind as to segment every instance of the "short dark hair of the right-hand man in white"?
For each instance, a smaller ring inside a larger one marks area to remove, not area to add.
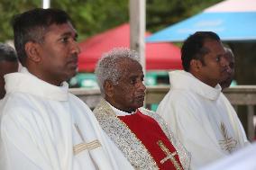
[[[199,59],[204,64],[204,56],[209,51],[204,48],[206,40],[220,41],[220,37],[213,31],[197,31],[184,41],[181,48],[181,60],[185,71],[189,71],[192,59]]]

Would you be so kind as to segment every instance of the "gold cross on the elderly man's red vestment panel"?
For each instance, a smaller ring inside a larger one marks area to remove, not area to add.
[[[177,170],[182,170],[182,167],[179,166],[178,161],[175,159],[174,156],[177,155],[177,152],[171,153],[169,149],[163,144],[161,140],[157,142],[157,144],[160,146],[161,150],[165,153],[166,157],[164,157],[162,160],[160,160],[161,164],[164,164],[168,159],[171,161],[171,163],[175,166]]]

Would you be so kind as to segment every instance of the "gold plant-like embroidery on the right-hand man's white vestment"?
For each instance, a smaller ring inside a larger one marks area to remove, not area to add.
[[[228,132],[226,130],[226,127],[223,122],[221,122],[221,132],[224,137],[224,139],[219,140],[219,144],[222,149],[228,151],[229,153],[232,153],[233,148],[236,148],[237,146],[237,141],[233,139],[233,137],[228,136]]]

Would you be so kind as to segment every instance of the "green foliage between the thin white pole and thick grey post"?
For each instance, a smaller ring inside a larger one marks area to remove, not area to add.
[[[78,29],[79,40],[105,31],[129,18],[128,0],[59,0],[52,7],[69,13]]]

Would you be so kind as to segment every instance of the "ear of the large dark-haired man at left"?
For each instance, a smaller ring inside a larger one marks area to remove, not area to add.
[[[36,42],[29,41],[25,44],[25,51],[27,54],[28,59],[32,60],[33,62],[40,62],[41,57],[39,55],[40,44]]]

